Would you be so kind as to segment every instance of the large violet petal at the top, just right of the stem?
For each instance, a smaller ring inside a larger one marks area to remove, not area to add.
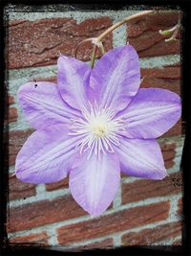
[[[125,108],[138,91],[138,54],[130,46],[117,47],[96,62],[91,77],[89,98],[116,111]]]

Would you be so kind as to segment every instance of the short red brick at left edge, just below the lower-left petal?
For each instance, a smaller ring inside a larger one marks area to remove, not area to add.
[[[28,198],[35,195],[35,186],[30,183],[21,182],[16,176],[10,175],[9,199]]]

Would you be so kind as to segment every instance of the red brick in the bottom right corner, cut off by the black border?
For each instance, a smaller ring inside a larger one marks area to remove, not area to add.
[[[124,234],[121,238],[122,245],[151,245],[181,235],[181,223],[173,222],[146,228],[138,232]]]

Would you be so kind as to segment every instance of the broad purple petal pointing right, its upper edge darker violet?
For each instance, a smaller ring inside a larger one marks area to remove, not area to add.
[[[120,113],[126,119],[129,138],[157,138],[180,119],[180,97],[165,89],[139,89],[128,107]]]

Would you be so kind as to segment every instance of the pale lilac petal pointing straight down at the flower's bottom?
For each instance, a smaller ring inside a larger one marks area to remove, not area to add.
[[[111,204],[120,180],[119,163],[115,153],[88,152],[79,154],[70,172],[70,189],[76,202],[91,216],[100,215]]]

